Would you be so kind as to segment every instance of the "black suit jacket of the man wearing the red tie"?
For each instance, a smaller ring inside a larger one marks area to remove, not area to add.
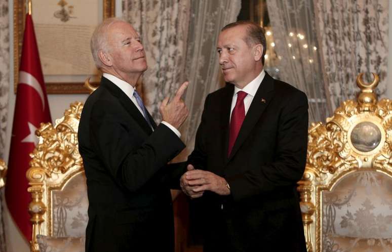
[[[204,251],[306,251],[296,192],[306,161],[306,95],[266,73],[228,157],[233,90],[228,84],[207,96],[188,157],[231,188],[229,196],[200,198]]]

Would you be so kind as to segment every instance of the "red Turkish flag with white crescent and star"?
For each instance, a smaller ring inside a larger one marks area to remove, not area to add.
[[[35,130],[41,122],[50,122],[48,97],[41,70],[31,15],[26,15],[19,82],[16,92],[10,158],[6,183],[6,201],[16,225],[31,240],[32,225],[28,213],[31,195],[27,192],[26,172],[31,153],[38,142]]]

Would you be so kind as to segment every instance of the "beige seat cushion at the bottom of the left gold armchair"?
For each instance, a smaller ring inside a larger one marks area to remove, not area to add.
[[[37,235],[41,252],[85,252],[86,238]]]

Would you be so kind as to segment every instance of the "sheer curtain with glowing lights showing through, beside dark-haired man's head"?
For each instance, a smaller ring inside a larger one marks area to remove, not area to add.
[[[332,113],[316,32],[312,1],[267,1],[280,78],[306,93],[309,122],[325,121]],[[267,45],[270,46],[270,45]]]

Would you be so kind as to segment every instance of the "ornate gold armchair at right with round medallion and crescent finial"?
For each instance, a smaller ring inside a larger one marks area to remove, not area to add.
[[[392,101],[377,101],[373,76],[309,129],[298,182],[309,252],[392,251]]]

